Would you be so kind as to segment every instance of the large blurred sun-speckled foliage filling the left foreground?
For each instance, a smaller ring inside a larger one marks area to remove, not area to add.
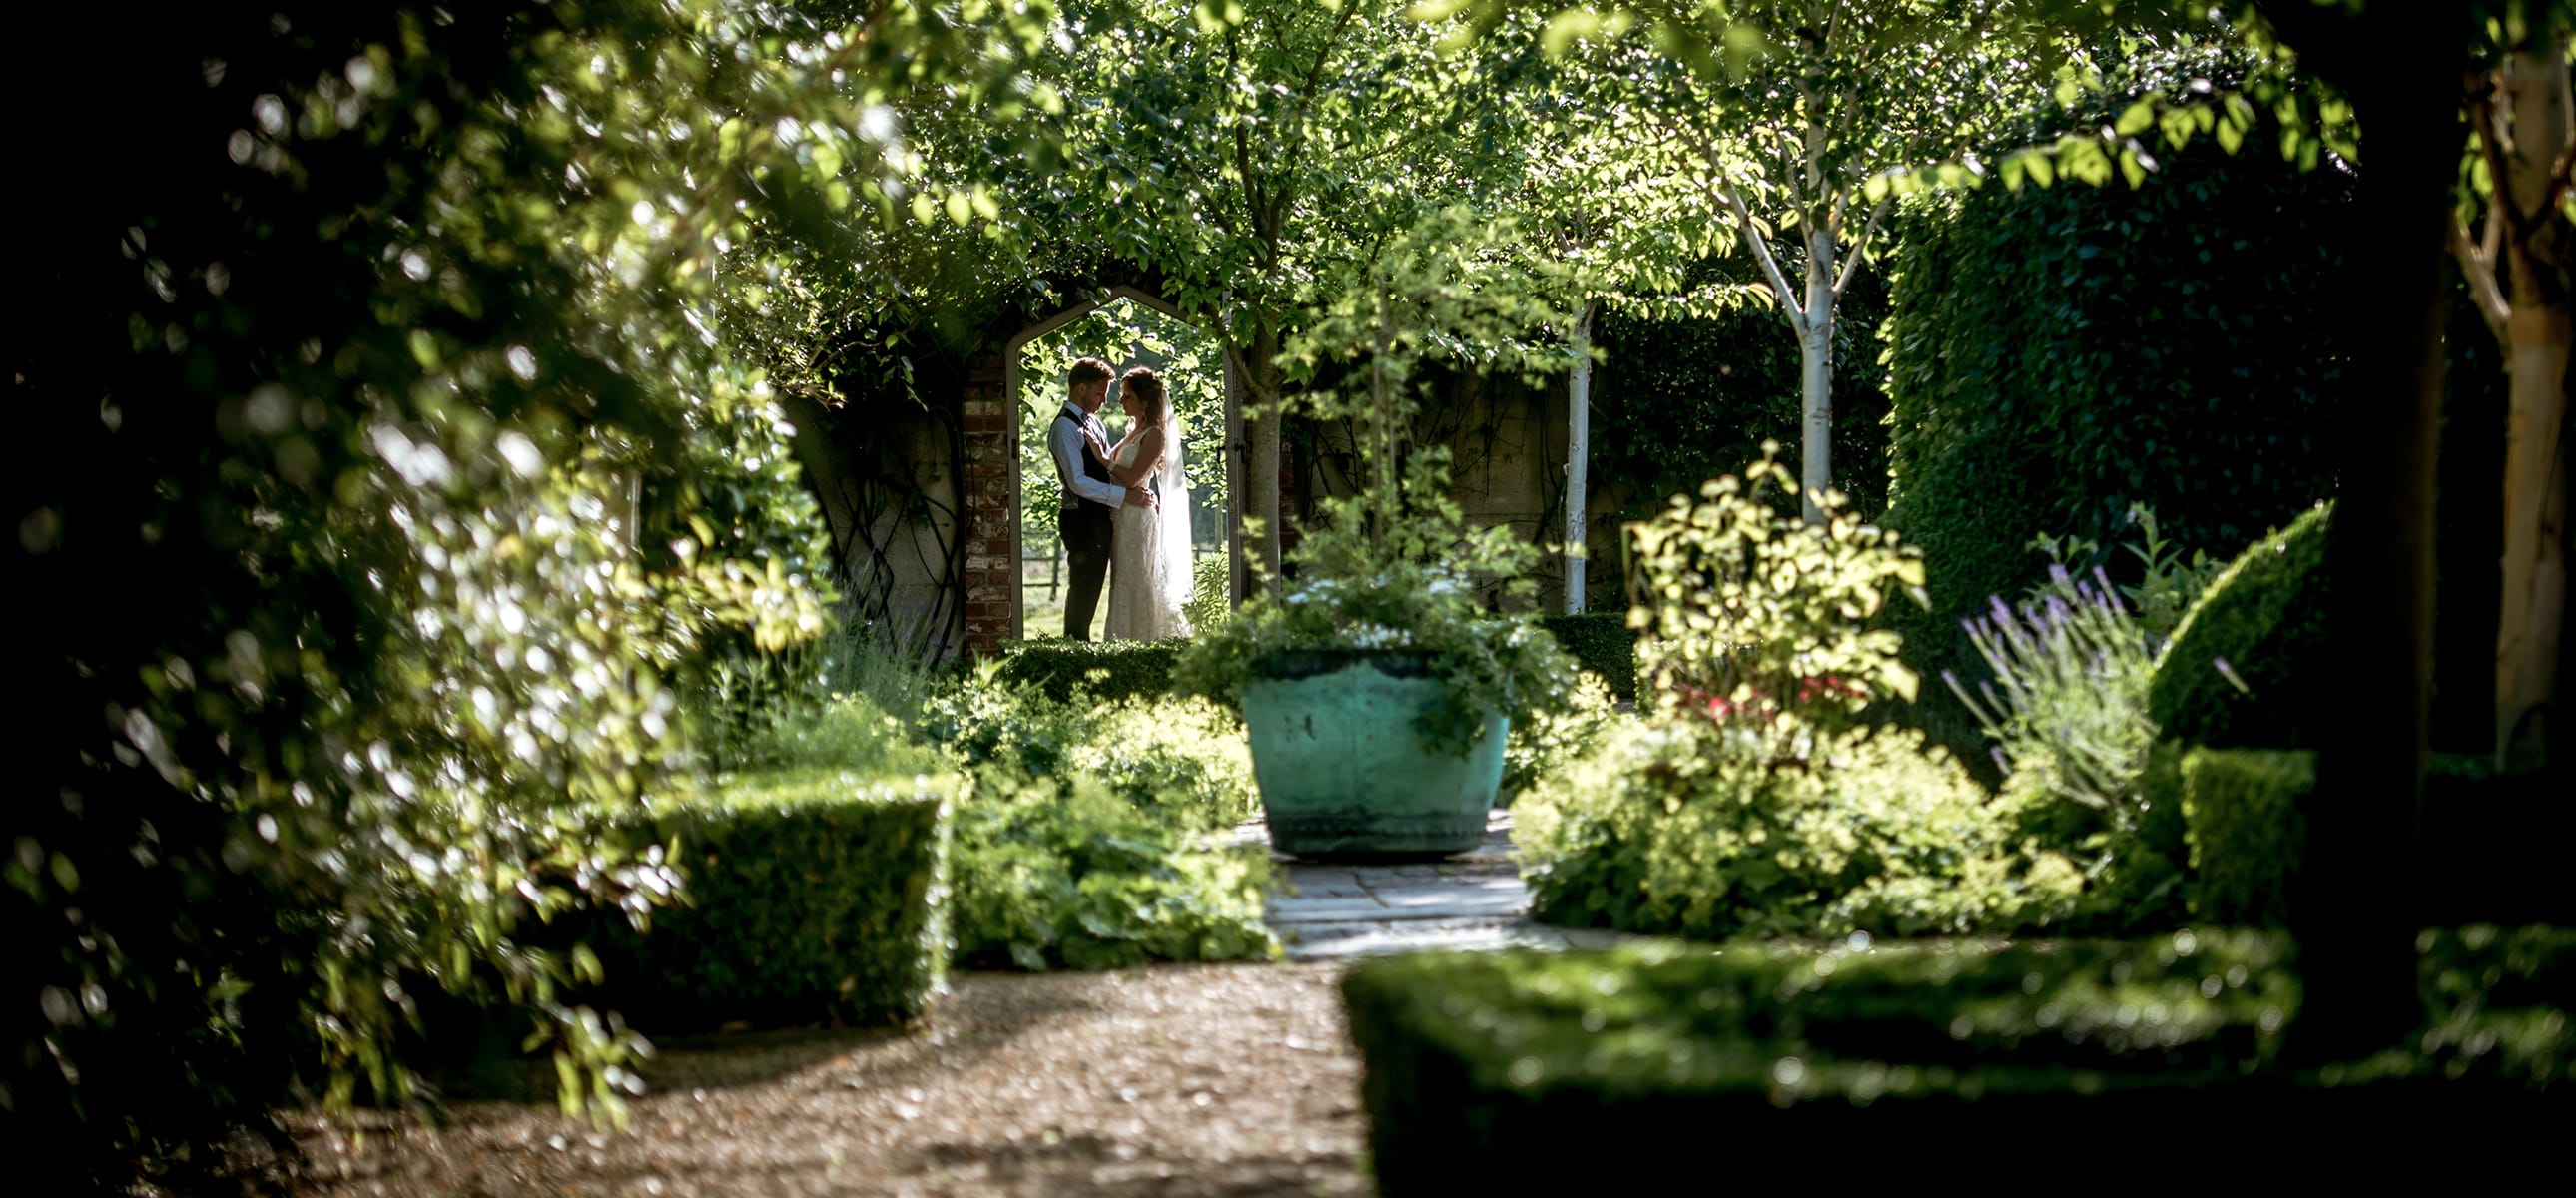
[[[711,657],[819,629],[811,497],[716,332],[757,252],[721,247],[884,193],[868,113],[1025,52],[775,15],[191,5],[116,88],[59,49],[93,28],[28,31],[13,95],[121,134],[64,144],[10,343],[13,678],[54,701],[0,1069],[98,1183],[296,1085],[407,1100],[422,994],[605,1092],[626,1043],[520,930],[667,881],[600,824],[690,770]]]

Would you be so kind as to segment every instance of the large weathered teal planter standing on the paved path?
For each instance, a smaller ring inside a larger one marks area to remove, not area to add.
[[[1476,848],[1512,724],[1489,714],[1466,755],[1422,747],[1414,719],[1440,701],[1440,683],[1417,662],[1311,657],[1244,685],[1273,848],[1306,858]]]

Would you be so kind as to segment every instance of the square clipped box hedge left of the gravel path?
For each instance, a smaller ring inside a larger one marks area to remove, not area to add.
[[[948,969],[953,786],[778,770],[626,824],[685,886],[644,933],[595,925],[598,1000],[675,1033],[920,1015]]]

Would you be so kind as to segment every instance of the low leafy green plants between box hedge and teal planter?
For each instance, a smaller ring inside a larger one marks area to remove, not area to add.
[[[1188,832],[1092,778],[976,770],[958,812],[958,964],[1265,961],[1270,853]]]

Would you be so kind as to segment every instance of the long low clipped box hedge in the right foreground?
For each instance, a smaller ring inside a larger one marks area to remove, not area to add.
[[[2442,976],[2476,989],[2558,961],[2563,979],[2568,938],[2543,940],[2555,956],[2486,946],[2452,953]],[[2308,1149],[2349,1134],[2406,1131],[2429,1146],[2566,1113],[2558,1007],[2445,997],[2452,1018],[2432,1020],[2439,1036],[2411,1038],[2414,1051],[2280,1064],[2300,1005],[2285,958],[2272,933],[1826,953],[1656,940],[1381,958],[1355,966],[1342,994],[1376,1175],[1394,1198],[1850,1177],[1855,1152],[1896,1167],[1973,1157],[2097,1175],[2136,1136],[2182,1149],[2239,1128],[2262,1128],[2262,1152],[2285,1154],[2267,1157],[2275,1167],[2311,1167]]]

